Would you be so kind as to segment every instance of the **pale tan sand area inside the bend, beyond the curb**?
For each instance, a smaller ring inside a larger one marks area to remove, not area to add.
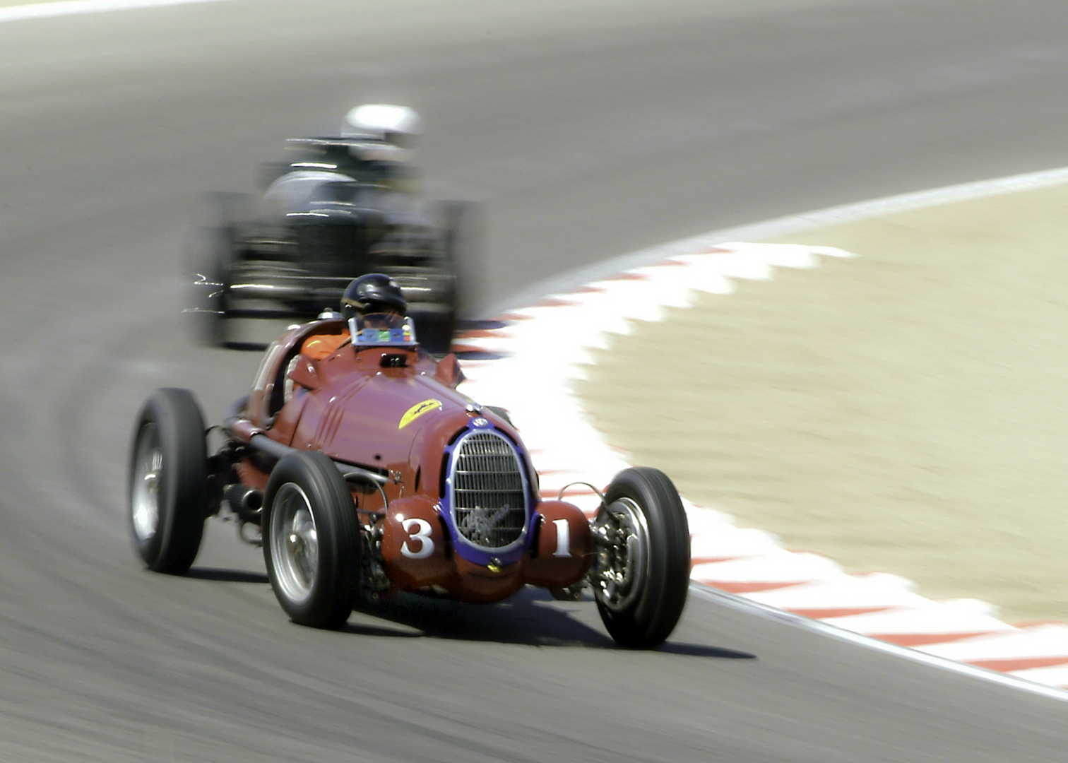
[[[695,503],[1010,623],[1068,620],[1068,185],[778,243],[841,247],[638,323],[578,391]]]

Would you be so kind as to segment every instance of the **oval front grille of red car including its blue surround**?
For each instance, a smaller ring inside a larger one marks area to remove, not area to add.
[[[464,559],[483,566],[512,564],[533,536],[529,468],[511,438],[485,419],[475,422],[445,449],[442,514]]]

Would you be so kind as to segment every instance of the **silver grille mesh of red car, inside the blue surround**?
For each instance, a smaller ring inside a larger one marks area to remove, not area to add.
[[[453,518],[464,538],[504,548],[522,536],[527,492],[512,442],[493,432],[466,436],[453,454],[452,477]]]

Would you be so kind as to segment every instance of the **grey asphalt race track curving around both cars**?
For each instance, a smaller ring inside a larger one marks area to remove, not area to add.
[[[485,202],[488,312],[663,240],[1063,166],[1066,21],[232,0],[0,25],[0,758],[1064,760],[1064,702],[706,596],[654,653],[534,592],[299,628],[233,528],[190,578],[140,571],[123,482],[148,391],[218,418],[256,362],[187,342],[197,194],[352,103],[419,108],[428,191]]]

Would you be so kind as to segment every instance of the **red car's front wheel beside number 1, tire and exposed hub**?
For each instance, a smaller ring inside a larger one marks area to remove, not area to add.
[[[594,598],[621,647],[663,642],[682,614],[690,586],[690,530],[671,479],[658,469],[625,469],[594,520],[598,558]]]

